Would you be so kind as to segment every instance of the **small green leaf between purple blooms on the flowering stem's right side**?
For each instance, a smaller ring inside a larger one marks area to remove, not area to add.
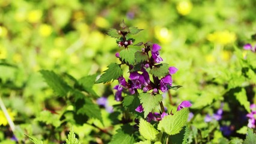
[[[168,64],[166,63],[154,65],[154,67],[150,70],[150,74],[156,77],[164,77],[169,74],[168,68]]]

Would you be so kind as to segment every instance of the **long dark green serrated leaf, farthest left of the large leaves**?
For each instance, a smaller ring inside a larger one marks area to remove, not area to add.
[[[53,71],[41,70],[44,80],[59,96],[66,96],[72,88]]]

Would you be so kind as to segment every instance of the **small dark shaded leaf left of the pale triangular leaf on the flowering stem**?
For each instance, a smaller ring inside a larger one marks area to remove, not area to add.
[[[139,98],[137,95],[129,95],[124,97],[123,106],[129,112],[136,112],[135,109],[139,106]]]

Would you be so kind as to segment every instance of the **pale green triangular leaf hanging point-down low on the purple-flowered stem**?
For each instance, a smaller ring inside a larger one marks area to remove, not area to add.
[[[160,94],[153,95],[150,93],[141,93],[139,94],[139,100],[141,101],[142,107],[144,108],[144,118],[147,117],[156,106],[159,105],[159,102],[162,101],[163,97]]]

